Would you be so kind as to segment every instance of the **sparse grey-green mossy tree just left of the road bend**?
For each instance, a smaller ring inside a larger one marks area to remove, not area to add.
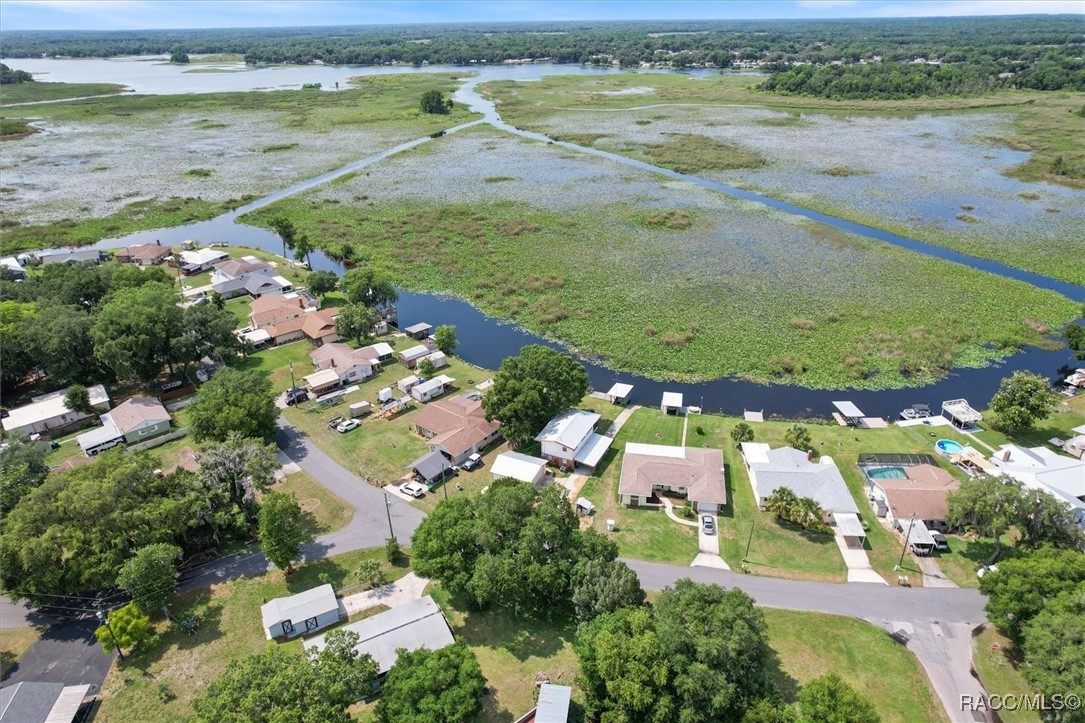
[[[233,432],[225,442],[204,447],[200,475],[208,487],[222,491],[252,522],[256,519],[257,493],[275,481],[278,454],[275,444]]]

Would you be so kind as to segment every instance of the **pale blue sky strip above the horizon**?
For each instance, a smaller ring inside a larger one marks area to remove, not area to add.
[[[469,23],[1077,13],[1085,0],[2,0],[15,29],[145,29]]]

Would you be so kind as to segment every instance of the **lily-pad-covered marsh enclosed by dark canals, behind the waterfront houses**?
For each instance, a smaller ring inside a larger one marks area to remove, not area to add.
[[[427,147],[424,164],[390,158],[379,175],[246,220],[285,215],[333,256],[655,378],[916,385],[1044,343],[1035,321],[1054,328],[1080,312],[1025,284],[493,130]],[[486,183],[492,157],[514,161],[520,180]],[[633,196],[600,180],[614,177]],[[674,213],[648,223],[663,212]]]

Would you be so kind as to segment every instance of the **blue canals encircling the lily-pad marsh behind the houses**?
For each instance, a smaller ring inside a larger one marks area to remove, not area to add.
[[[437,71],[441,68],[431,69]],[[814,212],[808,208],[795,206],[787,202],[777,201],[758,193],[733,188],[718,181],[653,166],[641,161],[636,161],[593,148],[577,145],[575,143],[564,141],[553,141],[541,134],[515,128],[500,117],[500,114],[498,114],[492,101],[483,98],[477,92],[476,86],[478,83],[486,79],[490,78],[486,78],[484,76],[470,78],[454,94],[454,98],[457,101],[465,104],[472,111],[482,114],[483,117],[481,119],[451,128],[447,132],[456,132],[481,123],[487,123],[498,129],[516,134],[524,138],[556,143],[576,152],[590,153],[616,163],[661,174],[669,178],[690,182],[695,186],[726,193],[739,199],[762,203],[766,206],[796,214],[850,233],[864,236],[884,243],[891,243],[916,253],[961,264],[970,268],[995,274],[1003,278],[1023,281],[1041,289],[1060,293],[1076,301],[1085,301],[1085,287],[1059,281],[1057,279],[1051,279],[1037,274],[1031,274],[1029,271],[1011,268],[997,262],[976,258],[974,256],[954,252],[941,246],[923,243],[915,239],[908,239],[894,233],[889,233],[869,226],[855,224],[853,221]],[[281,242],[276,234],[261,228],[247,226],[245,224],[238,224],[235,223],[237,219],[251,211],[310,190],[346,174],[366,168],[394,154],[405,152],[416,148],[417,145],[429,142],[431,138],[425,137],[408,141],[406,143],[400,143],[399,145],[382,151],[381,153],[355,161],[321,176],[295,183],[289,188],[260,198],[233,212],[224,214],[210,220],[181,227],[143,231],[115,239],[105,239],[95,245],[98,248],[112,249],[133,243],[153,242],[155,240],[176,244],[186,239],[197,239],[202,243],[227,242],[232,245],[248,245],[263,249],[271,253],[279,253],[281,251]],[[314,268],[330,269],[340,274],[345,270],[342,264],[332,261],[319,252],[312,254],[311,261]],[[411,324],[424,320],[433,325],[456,325],[460,339],[460,347],[457,350],[457,353],[465,360],[482,367],[496,369],[503,358],[515,354],[524,344],[544,343],[550,346],[560,347],[559,344],[548,340],[542,340],[541,338],[519,327],[501,324],[497,319],[486,316],[478,309],[472,307],[470,304],[458,299],[447,299],[431,294],[404,291],[398,306],[401,324]],[[886,391],[817,391],[794,385],[765,385],[735,379],[719,379],[702,383],[660,382],[638,375],[616,372],[607,368],[602,364],[597,364],[591,360],[585,359],[584,362],[585,366],[588,368],[589,379],[593,388],[607,390],[616,381],[631,383],[634,384],[635,390],[634,401],[639,404],[655,405],[659,403],[663,391],[675,391],[681,392],[686,395],[687,404],[701,406],[706,411],[741,414],[743,409],[751,409],[763,410],[766,415],[780,415],[787,417],[812,415],[826,416],[829,411],[831,411],[831,403],[835,399],[842,398],[855,402],[868,415],[890,417],[895,416],[895,414],[905,406],[917,402],[931,404],[936,407],[942,399],[961,396],[969,398],[974,405],[985,406],[991,396],[997,390],[1001,378],[1013,370],[1031,369],[1055,379],[1064,375],[1065,370],[1074,364],[1073,355],[1064,348],[1059,351],[1031,348],[1013,355],[1003,365],[981,369],[958,369],[946,379],[920,389]]]

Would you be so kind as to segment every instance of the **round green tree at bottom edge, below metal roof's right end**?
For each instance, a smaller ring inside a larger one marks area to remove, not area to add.
[[[376,701],[381,723],[459,723],[482,712],[486,678],[462,642],[427,650],[399,650]]]

